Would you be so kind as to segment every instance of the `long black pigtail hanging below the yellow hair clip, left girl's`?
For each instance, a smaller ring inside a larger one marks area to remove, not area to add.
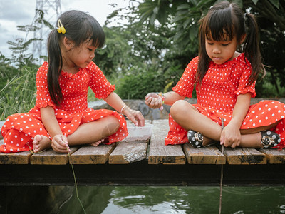
[[[57,29],[53,29],[48,35],[48,91],[56,106],[60,106],[62,100],[61,87],[58,83],[62,69],[60,36],[61,34],[58,34]]]

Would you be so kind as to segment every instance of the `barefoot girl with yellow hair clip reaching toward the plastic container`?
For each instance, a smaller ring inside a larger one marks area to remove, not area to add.
[[[121,141],[128,135],[123,113],[144,126],[142,114],[125,105],[92,61],[105,41],[100,24],[84,12],[66,11],[57,25],[48,36],[48,62],[36,74],[36,106],[7,118],[1,152],[67,153],[69,146]],[[88,87],[116,111],[88,108]]]

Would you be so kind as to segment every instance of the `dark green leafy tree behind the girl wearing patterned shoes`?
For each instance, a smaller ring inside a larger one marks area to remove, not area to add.
[[[169,34],[172,34],[169,41],[174,45],[171,51],[165,54],[162,67],[168,66],[165,62],[172,59],[177,59],[176,65],[180,63],[182,67],[185,67],[193,56],[197,56],[197,23],[207,13],[209,6],[215,2],[215,0],[145,0],[140,2],[138,9],[134,11],[140,17],[140,24],[147,25],[150,29],[157,29],[158,32],[160,28],[166,27],[171,32]],[[259,96],[284,96],[284,88],[279,90],[279,86],[285,86],[285,62],[282,60],[285,57],[285,51],[280,49],[280,46],[285,43],[285,1],[236,0],[234,2],[242,9],[255,14],[261,27],[262,53],[269,75],[262,83],[257,83]],[[160,36],[164,35],[160,34]],[[265,90],[264,86],[268,84],[274,86],[276,91],[269,93]]]

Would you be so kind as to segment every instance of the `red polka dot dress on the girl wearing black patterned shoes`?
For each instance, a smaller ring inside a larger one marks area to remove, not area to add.
[[[192,97],[195,85],[195,74],[199,58],[193,58],[185,69],[180,81],[172,88],[173,91],[185,97]],[[195,108],[204,116],[221,125],[221,118],[224,118],[224,126],[227,126],[232,118],[232,111],[237,102],[239,94],[255,93],[255,83],[247,86],[247,80],[252,73],[252,66],[240,54],[232,61],[227,61],[222,65],[214,62],[209,63],[209,69],[202,80],[200,87],[196,87],[197,104]],[[276,121],[280,121],[275,131],[281,137],[281,142],[274,148],[285,147],[285,105],[279,101],[261,101],[250,106],[247,116],[245,116],[241,129],[257,128],[269,126]],[[182,128],[171,117],[169,118],[170,131],[165,138],[165,144],[187,143],[187,131]]]

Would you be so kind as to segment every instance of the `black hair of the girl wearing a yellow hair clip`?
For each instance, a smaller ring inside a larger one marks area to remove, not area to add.
[[[56,29],[53,29],[48,35],[48,91],[51,100],[56,106],[60,106],[62,101],[62,92],[58,83],[61,75],[63,59],[61,55],[60,41],[66,36],[71,39],[75,46],[80,46],[83,42],[92,41],[93,46],[101,48],[105,42],[105,34],[96,19],[82,11],[66,11],[58,18],[63,27],[66,29],[65,34],[57,31],[58,21],[56,21]]]

